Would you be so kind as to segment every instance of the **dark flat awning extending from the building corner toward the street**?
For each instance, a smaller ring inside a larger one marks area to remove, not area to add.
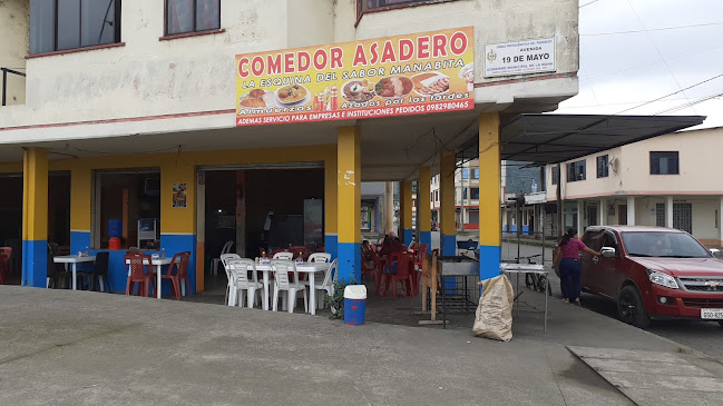
[[[703,116],[519,115],[501,123],[501,159],[557,164],[703,123]],[[478,138],[462,158],[475,158]]]

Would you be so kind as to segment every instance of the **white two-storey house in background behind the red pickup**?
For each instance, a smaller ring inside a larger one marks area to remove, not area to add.
[[[565,227],[673,227],[709,246],[723,245],[723,176],[717,172],[723,127],[668,133],[548,165],[547,201],[557,201]]]

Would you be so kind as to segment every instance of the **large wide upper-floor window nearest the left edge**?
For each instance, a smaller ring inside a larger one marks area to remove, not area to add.
[[[120,42],[120,0],[31,0],[30,53]]]

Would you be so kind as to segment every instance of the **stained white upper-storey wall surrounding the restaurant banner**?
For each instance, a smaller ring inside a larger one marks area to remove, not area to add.
[[[27,108],[0,109],[0,122],[13,127],[232,110],[237,53],[465,26],[476,27],[479,82],[488,81],[481,61],[485,43],[490,42],[555,37],[558,72],[577,71],[576,0],[459,0],[368,13],[356,28],[354,4],[354,0],[224,1],[225,32],[159,41],[164,2],[125,0],[125,47],[29,59]],[[27,38],[23,43],[27,47]],[[477,89],[476,96],[494,95],[490,102],[511,103],[516,98],[541,102],[539,98],[557,100],[577,92],[576,79],[545,82]]]

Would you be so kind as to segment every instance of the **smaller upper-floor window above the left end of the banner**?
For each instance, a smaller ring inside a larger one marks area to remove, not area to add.
[[[166,34],[221,28],[221,0],[166,0]]]

